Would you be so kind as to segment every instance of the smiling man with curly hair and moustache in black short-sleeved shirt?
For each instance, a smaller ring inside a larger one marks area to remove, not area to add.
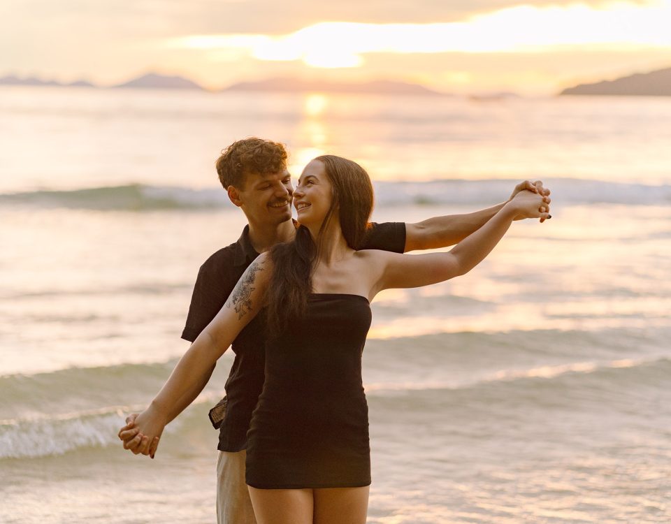
[[[217,160],[217,174],[233,204],[247,217],[238,242],[220,249],[199,270],[182,338],[193,342],[224,305],[238,279],[259,253],[278,242],[294,238],[291,219],[294,187],[287,170],[287,152],[281,144],[259,138],[233,143]],[[542,192],[549,210],[549,191],[542,183],[522,182],[519,191]],[[511,196],[511,198],[512,198]],[[486,223],[503,204],[470,214],[435,217],[417,224],[373,224],[365,248],[407,252],[454,245]],[[217,521],[219,524],[254,524],[254,512],[245,483],[245,449],[252,411],[264,384],[265,321],[259,314],[240,332],[232,344],[236,354],[226,381],[226,397],[210,414],[219,427],[217,463]],[[212,367],[213,370],[213,367]],[[199,384],[180,398],[168,416],[171,421],[185,409],[207,384],[212,370]],[[217,412],[225,409],[223,420]],[[124,448],[154,456],[157,440],[147,442],[134,428],[131,414],[120,431]],[[217,426],[215,426],[217,427]]]

